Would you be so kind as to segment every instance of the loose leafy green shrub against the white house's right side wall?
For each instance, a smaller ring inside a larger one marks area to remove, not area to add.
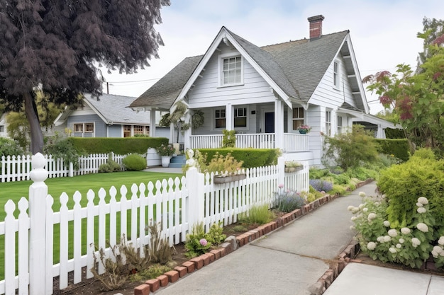
[[[360,125],[353,125],[352,132],[324,138],[322,162],[326,167],[347,170],[377,160],[377,144]]]

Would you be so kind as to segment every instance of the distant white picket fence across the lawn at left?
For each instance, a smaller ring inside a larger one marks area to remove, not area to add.
[[[111,154],[111,158],[119,164],[126,155]],[[63,159],[52,158],[52,155],[45,155],[47,161],[46,170],[49,178],[72,177],[89,173],[98,173],[101,164],[108,162],[108,154],[90,154],[79,157],[79,169],[74,170],[72,163],[65,163]],[[10,181],[29,180],[29,173],[32,169],[31,156],[1,156],[0,183]]]

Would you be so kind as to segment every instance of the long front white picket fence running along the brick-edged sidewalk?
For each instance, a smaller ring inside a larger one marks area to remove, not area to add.
[[[70,197],[65,192],[58,199],[48,195],[47,163],[43,155],[33,156],[29,200],[22,197],[17,206],[11,200],[5,204],[6,218],[0,222],[0,238],[4,238],[0,294],[52,294],[54,277],[60,278],[59,288],[65,289],[82,281],[82,267],[87,267],[87,278],[93,277],[90,270],[94,255],[99,255],[96,249],[106,249],[109,255],[107,246],[119,241],[126,241],[143,256],[150,241],[145,228],[151,222],[161,223],[162,235],[173,245],[184,242],[194,224],[203,222],[208,231],[213,223],[232,224],[252,205],[270,204],[279,184],[301,190],[309,187],[308,163],[304,170],[289,175],[284,173],[284,159],[279,158],[277,166],[248,169],[244,180],[220,185],[213,183],[214,175],[190,168],[180,179],[133,184],[131,192],[126,186],[101,188],[97,194],[89,190],[86,207],[81,204],[85,196],[76,192],[68,208]],[[60,202],[59,212],[53,212],[55,202]],[[54,241],[57,231],[60,239]],[[58,263],[53,261],[54,243],[60,245]],[[69,272],[74,274],[72,282]],[[98,272],[104,272],[103,265],[99,264]]]

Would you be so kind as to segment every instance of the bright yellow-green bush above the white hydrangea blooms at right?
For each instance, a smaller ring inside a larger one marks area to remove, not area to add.
[[[438,224],[444,224],[444,160],[435,160],[430,149],[418,150],[406,163],[382,170],[379,190],[387,195],[388,218],[406,224],[415,212],[415,200],[427,197]]]

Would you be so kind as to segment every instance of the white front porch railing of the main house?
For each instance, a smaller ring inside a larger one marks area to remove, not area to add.
[[[274,133],[235,134],[236,148],[281,149],[284,153],[309,151],[309,135],[284,133],[282,145],[275,140]],[[190,135],[190,149],[217,149],[222,146],[222,134]]]

